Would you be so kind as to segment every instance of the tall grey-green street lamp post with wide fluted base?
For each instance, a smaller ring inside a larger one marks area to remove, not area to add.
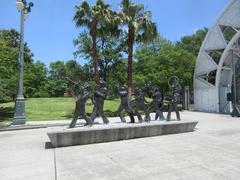
[[[25,101],[23,96],[23,64],[24,64],[24,20],[31,12],[33,3],[27,4],[26,0],[16,1],[17,10],[21,13],[20,30],[20,50],[19,50],[19,76],[18,76],[18,94],[15,104],[15,113],[13,125],[25,124]]]

